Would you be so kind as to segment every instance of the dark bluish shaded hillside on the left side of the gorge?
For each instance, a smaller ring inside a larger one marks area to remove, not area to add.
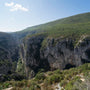
[[[11,72],[12,61],[17,61],[16,41],[9,33],[0,32],[0,74]]]

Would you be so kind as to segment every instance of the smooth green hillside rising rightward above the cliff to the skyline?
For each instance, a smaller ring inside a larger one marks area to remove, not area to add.
[[[16,32],[17,37],[22,38],[33,34],[46,34],[49,37],[78,37],[82,34],[90,34],[90,12],[63,18],[46,24],[29,27]]]

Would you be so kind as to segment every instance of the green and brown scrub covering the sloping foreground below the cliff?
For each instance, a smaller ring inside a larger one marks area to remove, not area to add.
[[[65,90],[87,90],[87,87],[89,89],[90,63],[69,70],[39,72],[31,80],[0,83],[0,89],[13,87],[12,90],[54,90],[53,85],[56,83],[60,83]]]

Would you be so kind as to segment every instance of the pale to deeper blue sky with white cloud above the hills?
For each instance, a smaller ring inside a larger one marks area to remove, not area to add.
[[[90,12],[90,0],[0,0],[0,31],[16,32]]]

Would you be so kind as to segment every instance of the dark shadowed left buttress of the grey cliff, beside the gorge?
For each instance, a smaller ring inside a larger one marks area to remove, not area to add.
[[[49,70],[48,61],[45,58],[41,59],[40,56],[40,48],[43,39],[43,36],[31,37],[21,45],[20,56],[25,64],[27,77],[29,75],[33,77],[41,68]]]

